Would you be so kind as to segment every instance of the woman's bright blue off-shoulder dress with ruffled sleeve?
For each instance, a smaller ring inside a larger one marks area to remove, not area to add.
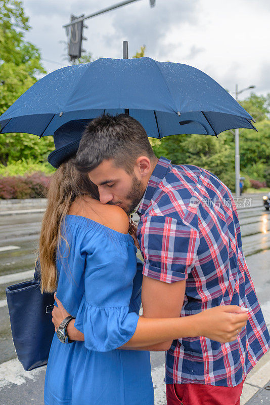
[[[134,334],[141,305],[142,263],[129,234],[67,215],[57,253],[57,297],[76,318],[84,342],[55,334],[46,405],[153,405],[148,351],[119,350]]]

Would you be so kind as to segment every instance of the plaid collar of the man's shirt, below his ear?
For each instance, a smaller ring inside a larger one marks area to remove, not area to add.
[[[143,199],[140,203],[139,209],[137,210],[137,213],[142,216],[146,210],[147,207],[150,204],[150,201],[154,195],[154,192],[161,182],[161,180],[165,177],[165,174],[168,171],[169,165],[171,163],[171,160],[166,159],[166,157],[161,156],[160,159],[158,160],[158,163],[153,170],[153,173],[148,181]]]

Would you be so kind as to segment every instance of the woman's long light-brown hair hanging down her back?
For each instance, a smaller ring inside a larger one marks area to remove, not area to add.
[[[99,199],[98,189],[87,174],[78,172],[71,159],[62,163],[51,177],[47,209],[41,225],[39,239],[41,293],[56,291],[56,254],[59,241],[61,238],[64,239],[61,224],[73,201],[86,195]]]

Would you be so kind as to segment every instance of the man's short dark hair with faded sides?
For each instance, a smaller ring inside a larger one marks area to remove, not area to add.
[[[131,174],[136,159],[143,155],[156,157],[144,127],[129,115],[106,114],[87,125],[73,163],[80,172],[88,173],[103,160],[114,159],[116,167]]]

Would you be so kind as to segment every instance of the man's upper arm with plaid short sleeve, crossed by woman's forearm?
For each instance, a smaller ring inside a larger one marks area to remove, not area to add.
[[[198,232],[180,219],[149,216],[140,229],[144,258],[142,304],[145,318],[179,317],[186,278],[194,266]],[[166,282],[165,282],[166,281]],[[149,350],[168,350],[172,341]]]

